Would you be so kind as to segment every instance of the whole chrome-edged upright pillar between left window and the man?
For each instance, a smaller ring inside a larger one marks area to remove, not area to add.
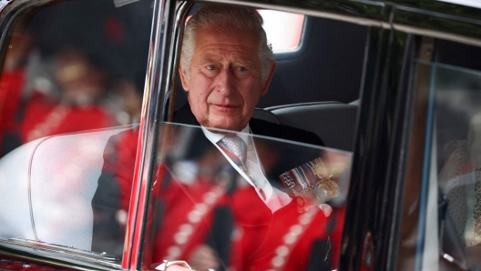
[[[179,49],[179,35],[174,31],[176,11],[184,10],[186,5],[177,5],[175,1],[156,0],[154,4],[154,15],[152,32],[150,38],[150,48],[148,55],[148,72],[142,104],[142,114],[140,121],[138,154],[136,160],[137,177],[135,179],[136,191],[132,191],[135,202],[130,203],[130,212],[134,208],[133,216],[129,216],[127,242],[125,250],[127,260],[122,262],[123,268],[132,270],[148,269],[149,263],[144,254],[146,238],[148,236],[148,204],[150,198],[150,188],[154,182],[154,170],[158,161],[157,146],[159,143],[159,124],[166,117],[166,106],[170,88],[174,87],[177,73],[175,65],[177,63],[176,50]],[[183,8],[184,9],[183,9]],[[169,114],[167,114],[169,115]]]

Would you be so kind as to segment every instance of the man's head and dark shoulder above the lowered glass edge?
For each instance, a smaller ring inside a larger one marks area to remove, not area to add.
[[[201,6],[184,32],[179,74],[189,103],[174,122],[322,146],[312,133],[251,118],[275,68],[255,9]]]

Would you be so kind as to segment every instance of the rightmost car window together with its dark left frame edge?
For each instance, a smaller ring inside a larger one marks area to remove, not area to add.
[[[481,66],[473,61],[481,50],[441,39],[428,44],[434,52],[431,59],[423,57],[428,50],[422,49],[414,61],[418,75],[414,106],[423,109],[415,111],[419,116],[414,115],[413,122],[423,123],[418,127],[425,128],[425,135],[415,134],[418,137],[412,140],[418,155],[423,155],[416,166],[422,181],[415,186],[408,182],[405,188],[410,192],[404,196],[399,244],[403,260],[398,267],[472,270],[481,264],[477,249]]]

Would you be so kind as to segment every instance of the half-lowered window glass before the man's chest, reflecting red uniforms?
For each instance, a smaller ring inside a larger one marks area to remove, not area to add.
[[[335,268],[351,155],[238,133],[246,144],[239,162],[220,133],[162,125],[152,266],[167,259],[200,270]],[[212,144],[212,136],[222,140]]]

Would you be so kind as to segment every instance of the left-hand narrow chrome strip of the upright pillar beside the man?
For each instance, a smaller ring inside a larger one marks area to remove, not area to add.
[[[154,2],[154,11],[152,16],[152,28],[150,32],[150,45],[148,48],[148,66],[147,75],[144,85],[144,96],[142,101],[142,113],[140,116],[140,127],[138,140],[138,151],[136,156],[136,166],[134,172],[134,182],[132,187],[132,193],[130,196],[129,215],[127,226],[130,230],[127,231],[126,242],[124,244],[124,256],[122,258],[122,268],[124,269],[138,269],[138,265],[141,260],[138,260],[138,255],[142,251],[142,244],[138,244],[138,236],[142,235],[142,228],[145,225],[145,208],[147,201],[145,194],[148,190],[149,180],[152,179],[153,166],[150,163],[155,160],[155,152],[153,151],[154,139],[157,137],[155,131],[156,115],[158,109],[157,101],[162,98],[162,92],[159,90],[159,81],[155,80],[156,75],[159,74],[159,65],[162,64],[160,54],[160,40],[162,44],[164,41],[165,33],[163,25],[163,15],[166,8],[167,1],[156,0]],[[160,59],[159,59],[160,58]],[[160,96],[160,97],[159,97]],[[140,161],[138,161],[138,159]],[[138,161],[138,162],[137,162]],[[140,195],[143,193],[144,198],[140,199]],[[132,201],[133,200],[133,201]],[[140,222],[138,223],[138,220]],[[140,229],[139,229],[140,228]]]

